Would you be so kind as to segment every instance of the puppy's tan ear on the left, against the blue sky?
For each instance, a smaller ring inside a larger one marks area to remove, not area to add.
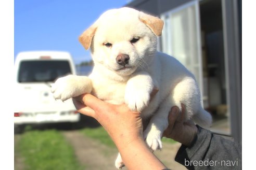
[[[93,24],[87,30],[85,30],[82,35],[80,35],[79,41],[86,50],[88,50],[89,47],[91,47],[92,39],[94,37],[96,30],[97,30],[97,26],[96,24]]]

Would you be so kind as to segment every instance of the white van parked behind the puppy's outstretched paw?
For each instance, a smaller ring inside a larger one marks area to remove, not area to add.
[[[76,74],[68,52],[20,52],[15,60],[15,125],[78,122],[72,99],[56,101],[50,86],[61,76]]]

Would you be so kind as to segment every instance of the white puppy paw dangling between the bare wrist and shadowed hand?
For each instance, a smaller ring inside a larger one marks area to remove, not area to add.
[[[144,139],[146,139],[146,143],[153,150],[161,150],[162,149],[162,141],[161,141],[161,132],[158,130],[150,130],[143,133]]]

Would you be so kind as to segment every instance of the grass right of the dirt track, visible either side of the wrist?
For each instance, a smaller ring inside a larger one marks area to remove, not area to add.
[[[82,129],[81,132],[93,139],[98,140],[100,143],[109,146],[109,147],[116,147],[112,141],[112,139],[109,137],[108,133],[105,131],[105,129],[102,126],[99,126],[97,128],[85,128]],[[170,138],[162,138],[163,143],[171,143],[174,144],[176,143],[175,140],[170,139]]]

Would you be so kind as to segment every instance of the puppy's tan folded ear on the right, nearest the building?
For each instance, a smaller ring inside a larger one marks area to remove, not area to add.
[[[146,24],[151,31],[156,34],[156,36],[160,36],[162,34],[163,21],[160,18],[140,12],[139,20]]]

